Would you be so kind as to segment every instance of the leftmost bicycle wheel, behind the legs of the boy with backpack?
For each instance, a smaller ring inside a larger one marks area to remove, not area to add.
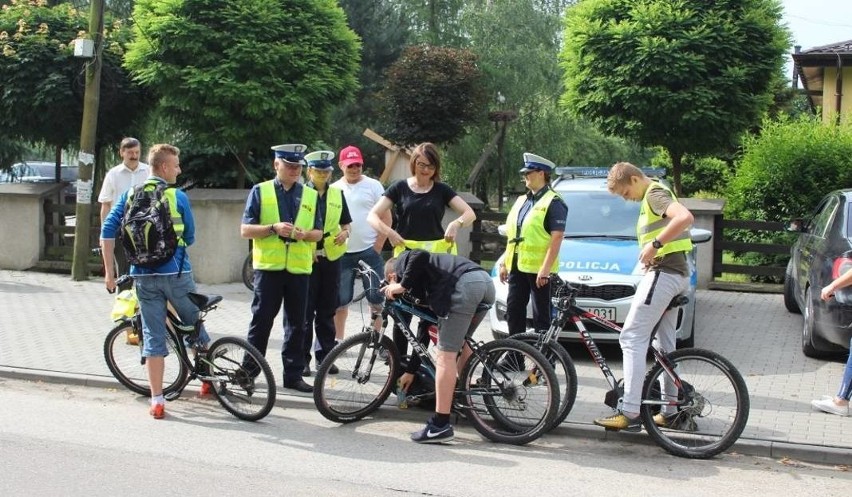
[[[136,336],[138,344],[128,339],[129,334]],[[109,371],[119,383],[131,392],[150,397],[148,370],[142,360],[142,342],[141,326],[135,327],[132,321],[121,322],[107,333],[104,340],[104,359]],[[181,390],[189,375],[186,364],[180,360],[180,354],[175,350],[171,331],[166,343],[171,353],[165,357],[163,394]]]

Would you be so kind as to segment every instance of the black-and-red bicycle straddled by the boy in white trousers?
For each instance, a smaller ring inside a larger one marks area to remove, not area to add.
[[[615,333],[620,333],[621,328],[578,307],[578,290],[558,275],[551,275],[551,284],[554,285],[551,304],[557,311],[556,317],[547,331],[526,334],[531,335],[527,339],[535,339],[538,348],[564,351],[557,342],[559,331],[575,326],[580,341],[610,386],[604,403],[619,409],[624,394],[622,382],[615,379],[584,323],[594,322]],[[679,295],[667,311],[687,302],[688,297]],[[659,323],[651,334],[652,343],[658,326]],[[748,422],[748,387],[739,371],[721,355],[705,349],[685,348],[669,353],[652,346],[650,351],[655,362],[646,373],[639,410],[651,439],[673,455],[692,459],[710,458],[727,450]],[[664,407],[675,412],[659,418]]]

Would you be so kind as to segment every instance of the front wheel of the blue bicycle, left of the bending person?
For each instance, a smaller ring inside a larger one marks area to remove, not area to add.
[[[390,338],[377,333],[353,335],[323,359],[314,379],[314,404],[326,419],[357,421],[390,396],[399,376],[399,352]],[[337,366],[337,374],[329,373],[332,365]]]

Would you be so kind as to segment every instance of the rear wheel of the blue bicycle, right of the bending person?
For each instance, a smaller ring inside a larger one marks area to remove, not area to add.
[[[532,345],[512,339],[482,345],[465,365],[456,394],[476,431],[500,443],[537,439],[553,426],[559,408],[550,363]]]

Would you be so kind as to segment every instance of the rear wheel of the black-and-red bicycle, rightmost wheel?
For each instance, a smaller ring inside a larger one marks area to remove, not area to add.
[[[667,357],[680,385],[659,363],[648,372],[640,408],[648,435],[680,457],[706,459],[727,450],[748,422],[748,387],[742,375],[709,350],[681,349]]]

